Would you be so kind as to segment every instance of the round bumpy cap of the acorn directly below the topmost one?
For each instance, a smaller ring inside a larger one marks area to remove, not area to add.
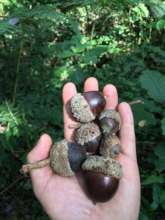
[[[99,126],[94,122],[82,124],[80,128],[75,131],[75,141],[81,145],[85,145],[99,137],[101,137],[101,131]]]

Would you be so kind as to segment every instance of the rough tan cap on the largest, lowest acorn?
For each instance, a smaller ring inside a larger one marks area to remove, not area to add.
[[[82,164],[82,169],[103,173],[105,176],[113,176],[117,179],[122,176],[122,168],[119,162],[101,156],[89,156]]]

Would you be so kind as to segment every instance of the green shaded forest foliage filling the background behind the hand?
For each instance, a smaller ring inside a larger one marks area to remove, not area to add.
[[[132,107],[141,220],[165,210],[165,3],[160,0],[0,2],[1,218],[47,219],[19,168],[43,133],[63,136],[61,91],[88,76]],[[57,117],[58,115],[58,117]],[[35,202],[34,202],[35,201]]]

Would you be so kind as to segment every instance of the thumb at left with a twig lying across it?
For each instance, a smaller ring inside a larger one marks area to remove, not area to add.
[[[39,141],[37,142],[36,146],[32,149],[32,151],[28,154],[27,159],[29,163],[34,163],[39,160],[44,160],[49,157],[50,149],[52,145],[52,140],[49,135],[43,134]],[[51,169],[49,166],[32,170],[30,172],[33,183],[37,184],[44,179],[45,176],[51,173]]]

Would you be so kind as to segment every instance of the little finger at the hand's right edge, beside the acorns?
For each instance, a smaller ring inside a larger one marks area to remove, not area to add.
[[[121,116],[120,140],[123,153],[136,160],[135,131],[132,110],[128,103],[118,106]]]

